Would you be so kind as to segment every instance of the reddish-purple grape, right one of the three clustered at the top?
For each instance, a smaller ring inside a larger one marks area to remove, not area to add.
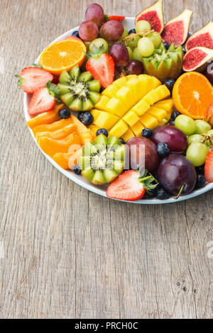
[[[102,38],[108,40],[109,42],[114,42],[115,40],[119,40],[121,35],[124,33],[124,26],[122,26],[119,21],[108,21],[103,24],[100,33]]]

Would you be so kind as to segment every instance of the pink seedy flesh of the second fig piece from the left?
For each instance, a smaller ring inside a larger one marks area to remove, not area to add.
[[[182,21],[175,21],[165,26],[162,37],[169,45],[175,43],[175,46],[182,45],[184,35],[184,25]]]

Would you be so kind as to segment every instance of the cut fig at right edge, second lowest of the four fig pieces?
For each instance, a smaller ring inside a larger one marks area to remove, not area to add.
[[[185,50],[189,51],[199,46],[213,49],[213,22],[209,22],[204,28],[191,35],[185,44]]]

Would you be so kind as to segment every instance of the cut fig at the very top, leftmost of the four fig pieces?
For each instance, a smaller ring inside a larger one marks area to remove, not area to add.
[[[136,16],[136,23],[143,20],[148,21],[151,24],[151,28],[157,33],[162,33],[164,27],[163,0],[158,0],[153,6],[144,9]]]

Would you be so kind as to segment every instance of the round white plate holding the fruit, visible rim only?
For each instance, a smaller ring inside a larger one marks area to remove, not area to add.
[[[131,17],[125,19],[125,21],[123,23],[124,23],[124,26],[127,28],[127,30],[131,30],[134,27],[134,20],[135,20],[135,18],[131,18]],[[53,40],[52,43],[58,42],[59,40],[63,40],[67,35],[72,35],[72,32],[75,31],[75,30],[78,30],[78,28],[79,27],[76,27],[74,29],[71,29],[71,30],[67,31],[67,33],[64,33],[59,38]],[[35,63],[38,63],[38,60],[39,60],[39,57],[38,57],[38,59],[36,60]],[[24,106],[24,115],[25,115],[26,121],[31,119],[31,116],[28,115],[28,103],[29,103],[29,101],[30,101],[30,96],[28,96],[27,94],[24,94],[23,106]],[[36,140],[35,140],[35,137],[33,135],[32,130],[30,130],[30,131],[31,131],[31,135],[33,136],[33,139],[35,141],[35,144],[38,145],[37,142],[36,142]],[[39,147],[39,149],[40,149],[40,147]],[[43,152],[43,151],[41,150],[41,152]],[[43,154],[45,154],[45,153],[43,152]],[[71,179],[72,181],[75,181],[75,183],[77,183],[78,185],[80,185],[80,186],[82,186],[84,188],[87,188],[87,190],[89,190],[89,191],[97,193],[100,196],[107,197],[106,196],[107,186],[96,186],[96,185],[93,185],[93,184],[89,183],[89,181],[87,181],[86,179],[84,179],[84,177],[77,176],[72,171],[67,171],[67,170],[62,169],[48,155],[45,154],[45,157],[50,161],[50,163],[53,164],[53,166],[55,166],[56,169],[58,169],[58,171],[60,171],[62,174],[64,174],[67,178]],[[210,190],[212,190],[212,188],[213,188],[213,184],[208,184],[204,188],[202,188],[200,190],[197,190],[197,191],[193,191],[192,193],[190,193],[187,196],[181,196],[178,200],[175,200],[173,198],[169,198],[168,200],[160,201],[160,200],[158,200],[156,198],[153,198],[153,199],[143,199],[143,200],[135,201],[133,203],[141,203],[141,204],[148,204],[148,205],[163,204],[163,203],[177,203],[177,202],[180,202],[180,201],[184,201],[184,200],[193,198],[195,196],[200,196],[200,194],[205,193],[207,191],[210,191]]]

